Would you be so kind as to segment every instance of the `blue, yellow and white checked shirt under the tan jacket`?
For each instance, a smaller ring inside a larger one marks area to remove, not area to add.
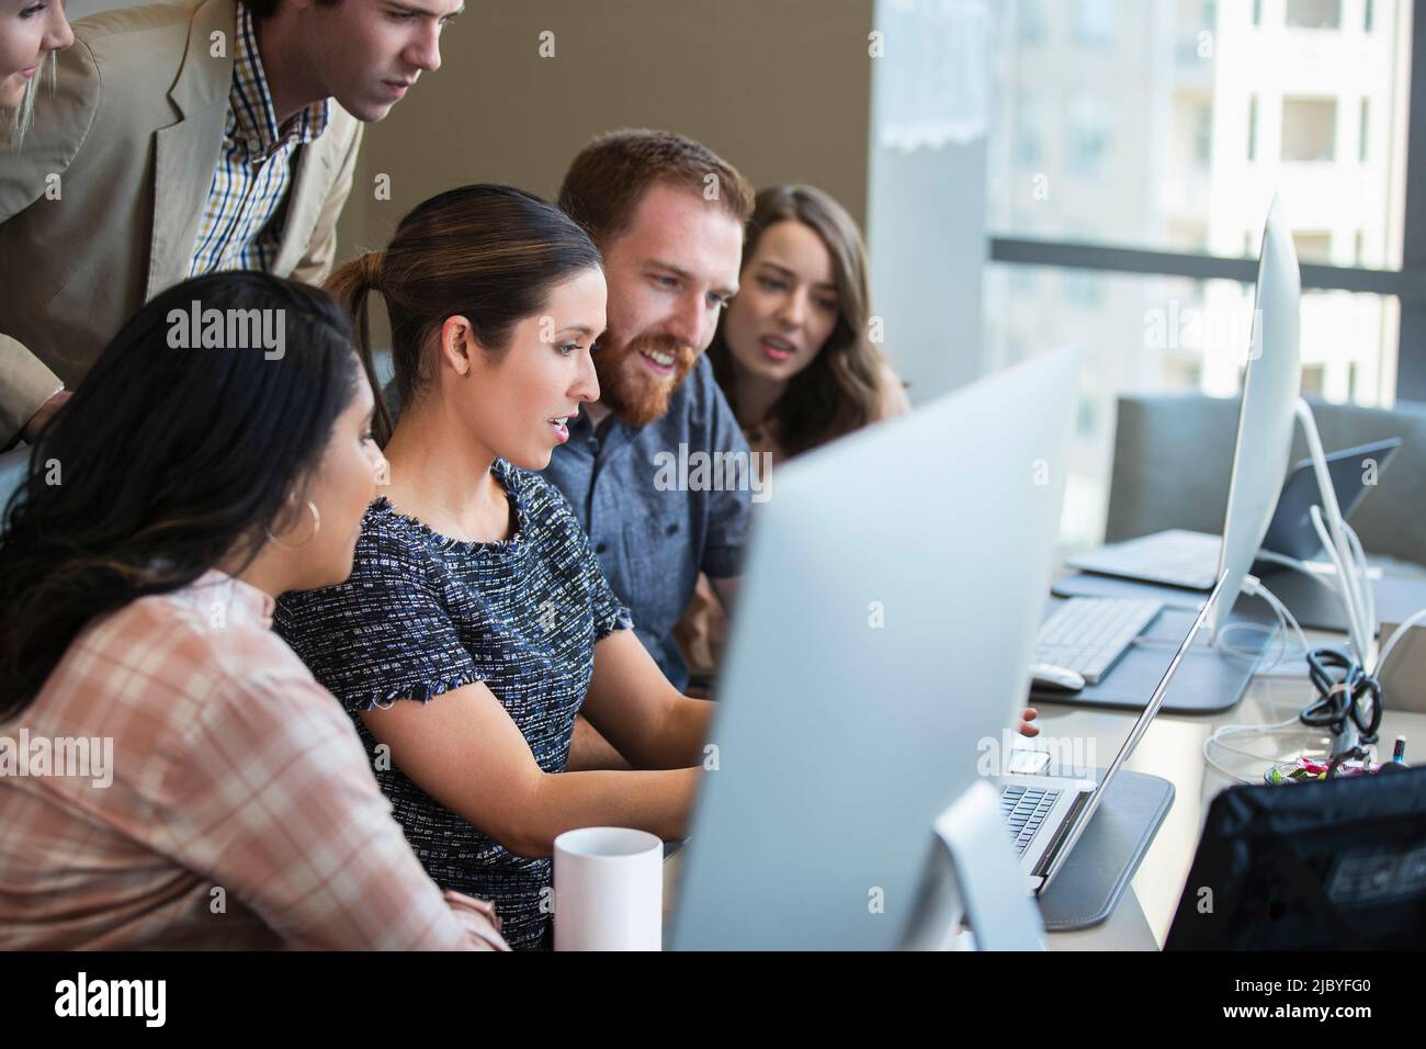
[[[190,277],[221,270],[271,270],[292,183],[292,153],[327,130],[329,104],[329,100],[312,103],[281,128],[277,126],[252,14],[240,3],[228,124],[194,241]]]

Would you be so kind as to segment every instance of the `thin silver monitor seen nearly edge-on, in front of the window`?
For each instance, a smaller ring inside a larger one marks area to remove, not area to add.
[[[1262,548],[1292,452],[1292,428],[1302,381],[1302,277],[1292,231],[1276,200],[1268,210],[1262,234],[1253,298],[1252,344],[1238,412],[1224,545],[1218,555],[1218,575],[1226,577],[1226,581],[1222,598],[1214,605],[1215,638],[1228,621],[1243,578]]]

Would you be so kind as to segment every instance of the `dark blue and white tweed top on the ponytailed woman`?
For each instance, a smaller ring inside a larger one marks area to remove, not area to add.
[[[509,539],[451,539],[379,498],[362,520],[351,578],[285,595],[275,627],[356,721],[376,781],[431,878],[493,899],[511,946],[536,948],[548,928],[540,889],[550,883],[550,861],[512,855],[401,769],[384,768],[392,762],[376,761],[375,739],[356,718],[404,699],[439,702],[483,681],[539,766],[565,769],[595,642],[632,622],[563,497],[503,460],[492,472],[515,504]]]

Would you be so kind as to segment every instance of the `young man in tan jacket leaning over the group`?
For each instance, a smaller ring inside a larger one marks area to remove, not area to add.
[[[0,158],[0,448],[33,440],[164,288],[318,283],[361,124],[441,64],[461,0],[178,0],[74,23]]]

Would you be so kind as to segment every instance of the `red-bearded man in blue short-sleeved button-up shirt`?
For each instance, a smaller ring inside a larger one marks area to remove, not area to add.
[[[545,477],[573,505],[639,639],[683,689],[673,627],[700,572],[732,604],[757,485],[703,357],[737,291],[753,190],[690,138],[626,130],[575,157],[559,206],[603,253],[609,303],[592,353],[599,400],[569,421]],[[690,460],[742,468],[684,471],[670,484],[670,464]]]

